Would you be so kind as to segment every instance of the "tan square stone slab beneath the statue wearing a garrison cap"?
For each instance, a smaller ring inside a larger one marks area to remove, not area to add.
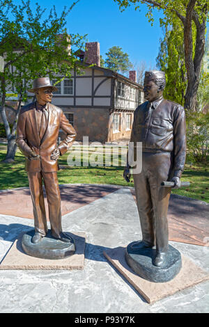
[[[125,248],[113,248],[104,251],[104,256],[114,267],[137,289],[148,303],[155,303],[164,297],[171,296],[187,287],[209,280],[209,273],[196,266],[191,260],[182,255],[180,273],[169,282],[149,282],[137,276],[125,260]]]

